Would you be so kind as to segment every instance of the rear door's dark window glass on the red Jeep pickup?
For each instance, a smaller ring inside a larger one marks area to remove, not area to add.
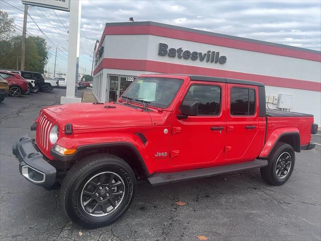
[[[255,113],[255,90],[248,88],[231,89],[231,114],[254,115]]]

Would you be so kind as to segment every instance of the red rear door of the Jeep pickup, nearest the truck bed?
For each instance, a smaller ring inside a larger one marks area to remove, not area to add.
[[[258,86],[227,84],[226,164],[251,161],[262,141],[259,132]]]

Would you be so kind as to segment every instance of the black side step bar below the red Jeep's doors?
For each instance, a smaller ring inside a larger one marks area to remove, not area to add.
[[[185,180],[190,180],[195,178],[211,177],[211,176],[216,176],[216,175],[225,174],[229,172],[236,172],[236,171],[266,167],[266,166],[267,166],[267,160],[256,159],[251,162],[244,162],[240,164],[212,167],[212,168],[205,168],[205,169],[197,169],[192,171],[155,173],[155,174],[152,174],[147,179],[151,185],[161,185],[161,184],[166,184],[171,182],[179,182],[179,181],[185,181]]]

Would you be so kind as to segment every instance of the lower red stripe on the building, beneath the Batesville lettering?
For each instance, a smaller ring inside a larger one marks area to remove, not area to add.
[[[292,89],[304,89],[312,91],[321,91],[321,83],[281,78],[260,74],[249,74],[228,70],[220,70],[213,68],[196,67],[182,64],[164,63],[152,60],[138,60],[138,59],[103,59],[94,71],[94,74],[99,72],[101,69],[125,69],[125,70],[138,70],[138,71],[150,71],[157,73],[167,74],[195,74],[195,75],[206,75],[232,79],[243,79],[258,81],[269,86],[278,86]]]

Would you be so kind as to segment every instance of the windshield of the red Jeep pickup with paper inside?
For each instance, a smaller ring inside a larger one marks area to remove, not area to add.
[[[172,103],[177,91],[183,83],[182,79],[138,77],[122,94],[132,102],[141,103],[137,100],[145,100],[147,106],[167,108]]]

